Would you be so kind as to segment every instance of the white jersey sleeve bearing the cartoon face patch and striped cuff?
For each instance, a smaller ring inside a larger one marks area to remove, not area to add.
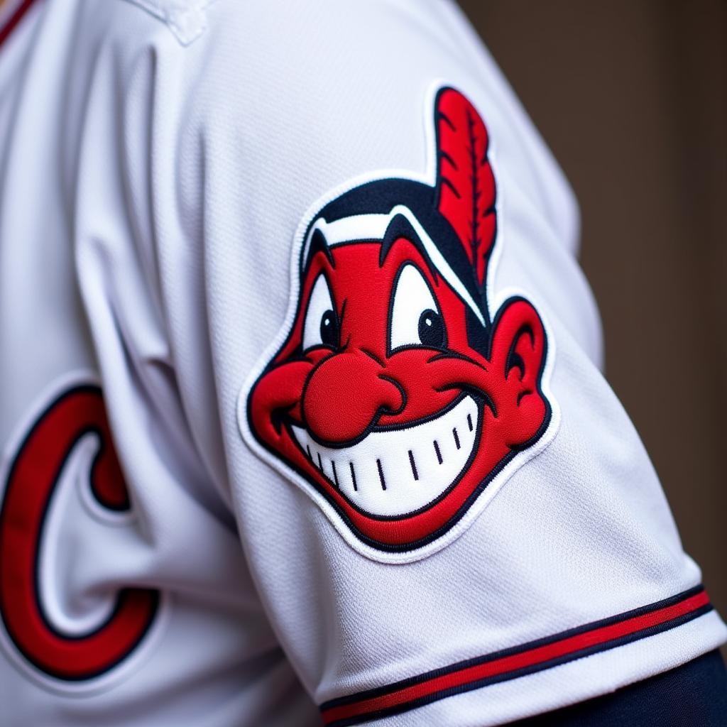
[[[722,643],[599,370],[574,197],[457,9],[204,18],[129,76],[131,193],[185,420],[323,723],[494,725]]]

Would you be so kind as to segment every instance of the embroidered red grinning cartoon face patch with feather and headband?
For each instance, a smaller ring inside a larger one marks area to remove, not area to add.
[[[253,449],[379,559],[449,542],[554,428],[537,310],[490,316],[486,127],[443,88],[434,129],[433,185],[365,182],[304,223],[291,322],[240,403]]]

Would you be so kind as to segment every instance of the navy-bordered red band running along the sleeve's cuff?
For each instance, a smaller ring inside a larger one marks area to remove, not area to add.
[[[689,593],[694,595],[687,595]],[[707,593],[701,589],[698,593],[691,590],[685,593],[685,598],[676,603],[671,603],[669,606],[656,608],[635,616],[630,615],[634,613],[634,611],[631,611],[630,614],[623,614],[624,618],[622,620],[612,622],[613,619],[609,619],[611,622],[608,625],[598,626],[594,624],[593,629],[588,630],[586,627],[586,630],[579,630],[576,635],[563,635],[563,638],[558,638],[556,635],[549,643],[541,646],[527,648],[527,645],[525,645],[523,650],[517,651],[515,654],[486,661],[484,659],[487,659],[487,657],[483,657],[481,663],[467,665],[460,669],[447,670],[444,674],[433,672],[430,678],[426,678],[426,675],[424,675],[421,680],[414,680],[416,683],[409,683],[407,686],[397,687],[392,685],[388,689],[377,690],[376,696],[366,698],[364,693],[362,699],[357,700],[356,696],[353,695],[345,699],[345,704],[340,704],[340,701],[344,700],[334,700],[334,702],[329,703],[330,706],[324,704],[321,707],[324,724],[332,725],[340,720],[345,720],[345,724],[363,722],[366,718],[383,716],[379,715],[379,712],[382,711],[403,711],[401,707],[409,703],[414,703],[411,704],[413,708],[419,706],[422,701],[425,704],[433,702],[437,698],[435,695],[438,693],[442,693],[439,698],[453,693],[457,694],[459,691],[464,691],[462,687],[466,688],[467,685],[481,680],[507,675],[509,672],[518,672],[529,667],[537,667],[538,664],[543,664],[545,668],[548,662],[563,663],[563,661],[568,660],[564,657],[572,655],[577,658],[576,655],[582,651],[588,651],[589,653],[593,653],[595,650],[602,651],[609,648],[609,644],[612,646],[619,645],[613,643],[614,641],[617,642],[624,637],[638,635],[639,632],[648,632],[654,627],[660,627],[671,621],[681,619],[683,616],[688,616],[688,614],[692,614],[705,606],[710,606]],[[644,636],[646,635],[650,634],[645,633]],[[542,643],[542,641],[539,643]],[[513,674],[513,678],[515,676],[517,674]]]

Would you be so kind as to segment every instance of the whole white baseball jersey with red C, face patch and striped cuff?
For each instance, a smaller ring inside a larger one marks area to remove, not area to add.
[[[483,727],[726,629],[454,4],[0,4],[0,722]]]

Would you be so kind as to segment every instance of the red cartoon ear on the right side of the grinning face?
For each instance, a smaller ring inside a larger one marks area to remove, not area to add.
[[[529,446],[545,422],[548,405],[539,389],[545,354],[545,328],[537,310],[524,298],[507,300],[493,322],[490,362],[505,377],[493,400],[513,449]]]

